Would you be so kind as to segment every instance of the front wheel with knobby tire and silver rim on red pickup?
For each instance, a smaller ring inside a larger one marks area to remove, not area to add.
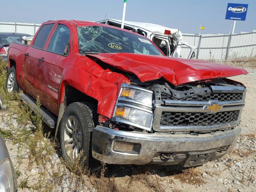
[[[94,162],[92,158],[94,126],[96,126],[96,107],[93,104],[74,102],[66,108],[60,126],[60,149],[69,166],[78,159],[82,160],[85,167],[89,167]],[[83,151],[82,156],[77,158],[81,151]]]

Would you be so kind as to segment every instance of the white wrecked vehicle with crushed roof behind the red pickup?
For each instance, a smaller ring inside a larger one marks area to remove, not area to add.
[[[121,20],[105,19],[97,21],[101,24],[116,26],[121,28]],[[182,40],[182,33],[178,29],[172,29],[165,26],[152,23],[125,21],[124,29],[134,31],[149,38],[158,46],[166,56],[182,57],[181,48],[189,48],[190,52],[186,58],[191,59],[195,56],[195,47]],[[185,56],[183,56],[185,58]]]

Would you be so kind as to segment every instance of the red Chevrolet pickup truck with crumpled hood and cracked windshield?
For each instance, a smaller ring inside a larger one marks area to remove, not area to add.
[[[232,150],[246,70],[170,58],[150,40],[113,26],[43,23],[30,46],[8,49],[8,92],[42,103],[66,162],[197,166]]]

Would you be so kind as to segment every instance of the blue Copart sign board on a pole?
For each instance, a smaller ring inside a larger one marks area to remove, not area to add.
[[[248,4],[228,3],[225,19],[245,21],[247,9]]]

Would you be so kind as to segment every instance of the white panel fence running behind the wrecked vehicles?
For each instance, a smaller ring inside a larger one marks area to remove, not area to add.
[[[0,32],[16,32],[34,35],[41,24],[0,22]],[[227,60],[256,56],[256,30],[241,34],[183,34],[189,44],[196,47],[195,59]],[[190,52],[182,47],[181,55],[186,58]]]

